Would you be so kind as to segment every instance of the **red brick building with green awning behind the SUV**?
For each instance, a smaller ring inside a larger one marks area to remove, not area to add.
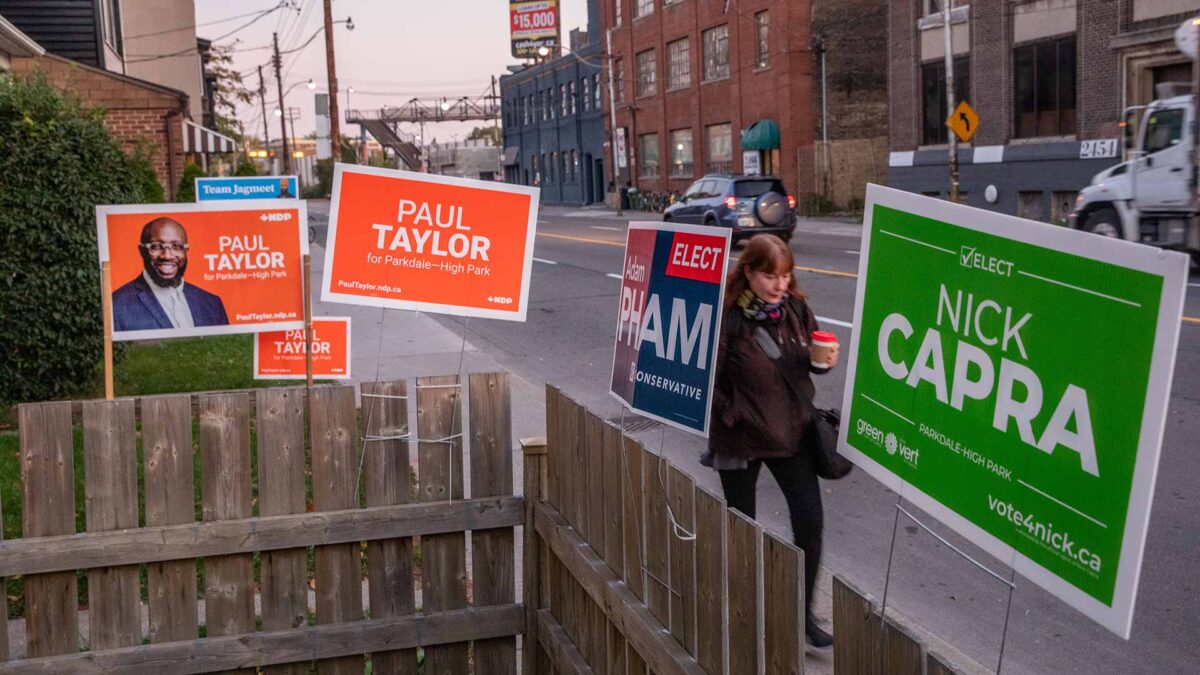
[[[811,192],[810,11],[809,0],[605,0],[622,181],[683,191],[706,173],[743,173],[749,153],[760,173]]]

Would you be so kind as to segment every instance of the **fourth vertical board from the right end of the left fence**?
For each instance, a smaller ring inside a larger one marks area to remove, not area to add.
[[[312,437],[312,506],[314,510],[358,508],[358,425],[354,389],[312,390],[308,408]],[[362,619],[361,545],[335,544],[316,551],[317,623]],[[317,664],[322,674],[362,673],[362,657],[349,656]]]

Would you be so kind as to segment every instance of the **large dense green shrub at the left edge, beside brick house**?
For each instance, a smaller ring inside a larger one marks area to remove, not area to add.
[[[0,77],[0,401],[67,395],[95,375],[95,205],[139,202],[146,166],[121,153],[102,110],[43,74]]]

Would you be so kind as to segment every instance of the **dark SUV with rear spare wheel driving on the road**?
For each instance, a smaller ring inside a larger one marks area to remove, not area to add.
[[[796,229],[796,197],[770,175],[709,174],[691,184],[662,220],[733,229],[733,241],[760,232],[787,241]]]

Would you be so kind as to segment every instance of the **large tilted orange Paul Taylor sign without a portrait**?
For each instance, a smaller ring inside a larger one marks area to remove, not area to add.
[[[323,301],[524,321],[538,189],[336,165]]]

